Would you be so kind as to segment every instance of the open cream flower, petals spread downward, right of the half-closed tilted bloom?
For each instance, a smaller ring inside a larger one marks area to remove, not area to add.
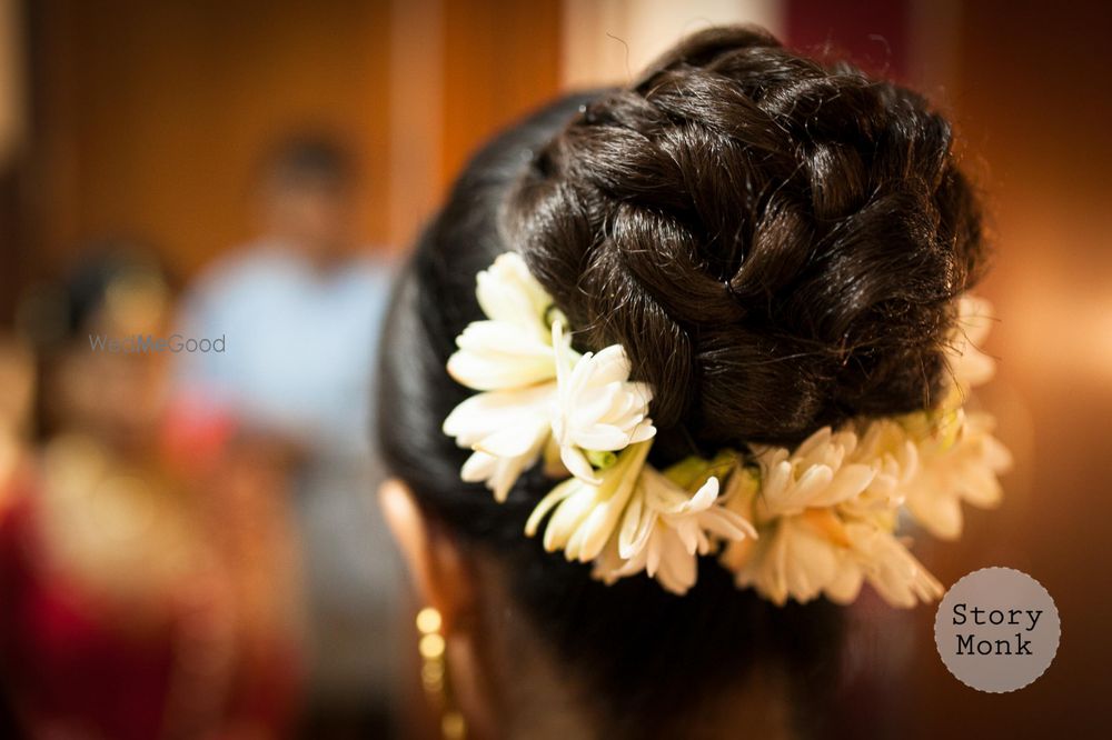
[[[705,469],[706,461],[701,462]],[[692,494],[673,476],[646,467],[617,537],[612,538],[605,559],[596,563],[595,577],[613,583],[644,570],[682,596],[695,584],[697,556],[709,553],[719,541],[747,537],[755,538],[756,530],[722,506],[716,477],[706,478]]]

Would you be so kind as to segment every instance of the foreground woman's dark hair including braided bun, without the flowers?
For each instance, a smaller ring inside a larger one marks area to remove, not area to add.
[[[562,100],[484,149],[421,237],[387,327],[380,438],[425,543],[469,563],[453,572],[470,583],[479,662],[526,634],[584,711],[639,737],[716,711],[754,673],[817,696],[836,608],[775,607],[713,563],[682,598],[644,577],[604,586],[524,537],[552,488],[542,471],[504,504],[460,482],[467,451],[441,423],[469,392],[445,364],[480,318],[475,274],[505,251],[577,349],[622,344],[655,388],[658,467],[929,408],[953,299],[983,251],[950,126],[912,92],[759,31],[696,34],[631,88]]]

